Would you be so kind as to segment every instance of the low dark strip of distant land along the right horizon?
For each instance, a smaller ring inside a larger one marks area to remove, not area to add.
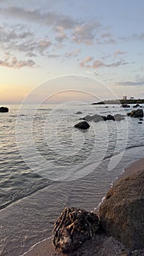
[[[92,105],[108,105],[108,104],[144,104],[144,99],[108,99],[102,102],[94,102]]]

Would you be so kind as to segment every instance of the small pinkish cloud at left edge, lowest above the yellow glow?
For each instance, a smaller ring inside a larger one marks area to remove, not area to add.
[[[15,56],[6,56],[5,59],[0,59],[1,67],[13,67],[20,69],[21,67],[34,67],[35,62],[32,59],[28,59],[27,61],[22,61],[16,59]]]

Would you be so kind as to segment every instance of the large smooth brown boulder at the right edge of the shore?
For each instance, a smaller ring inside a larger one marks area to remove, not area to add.
[[[99,206],[106,233],[131,249],[144,247],[144,170],[117,181]]]

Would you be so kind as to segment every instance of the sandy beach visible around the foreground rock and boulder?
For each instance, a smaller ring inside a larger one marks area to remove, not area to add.
[[[144,158],[134,161],[130,165],[124,168],[124,173],[122,173],[118,178],[113,182],[115,184],[117,181],[121,180],[129,174],[137,172],[137,170],[144,169]],[[123,244],[116,241],[115,238],[107,236],[105,233],[96,235],[91,240],[86,241],[82,246],[80,246],[77,251],[64,254],[62,252],[56,252],[55,247],[52,244],[51,236],[50,238],[45,238],[43,241],[39,241],[34,246],[31,246],[28,252],[25,252],[23,255],[20,256],[115,256],[121,255],[126,248]],[[144,249],[141,250],[142,254],[144,255]]]

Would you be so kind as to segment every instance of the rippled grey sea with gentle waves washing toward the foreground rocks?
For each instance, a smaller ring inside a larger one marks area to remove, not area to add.
[[[144,121],[120,105],[8,105],[0,113],[0,255],[20,256],[51,236],[64,207],[98,208],[124,168],[144,157]],[[141,105],[144,110],[144,105]],[[121,121],[86,115],[120,113]]]

